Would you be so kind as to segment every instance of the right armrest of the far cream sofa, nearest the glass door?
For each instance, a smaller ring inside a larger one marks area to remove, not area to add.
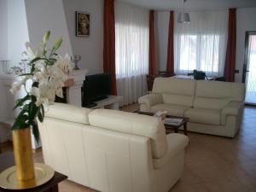
[[[227,116],[238,116],[243,108],[243,102],[229,102],[221,112],[221,124],[225,125]]]

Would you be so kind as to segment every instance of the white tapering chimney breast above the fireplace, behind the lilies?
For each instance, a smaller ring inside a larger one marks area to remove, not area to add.
[[[73,55],[62,0],[25,0],[25,5],[30,42],[38,44],[44,32],[50,31],[49,46],[61,36],[63,43],[58,53]]]

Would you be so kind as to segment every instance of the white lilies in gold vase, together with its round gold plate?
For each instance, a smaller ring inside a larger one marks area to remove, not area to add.
[[[49,166],[33,163],[31,129],[38,142],[38,120],[43,123],[44,108],[54,103],[55,95],[63,97],[62,87],[73,66],[70,56],[56,54],[62,38],[55,40],[51,49],[47,48],[49,34],[45,33],[43,42],[35,49],[26,43],[24,54],[28,57],[30,72],[20,74],[20,79],[10,90],[15,93],[25,89],[26,96],[18,99],[15,105],[15,108],[20,108],[12,126],[15,166],[0,175],[0,186],[4,189],[32,189],[54,176],[54,171]]]

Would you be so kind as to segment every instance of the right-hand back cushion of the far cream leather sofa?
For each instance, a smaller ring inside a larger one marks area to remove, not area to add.
[[[198,80],[193,107],[222,109],[228,102],[243,102],[244,97],[244,84]]]

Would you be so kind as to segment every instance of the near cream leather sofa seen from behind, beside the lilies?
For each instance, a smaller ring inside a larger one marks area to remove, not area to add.
[[[39,125],[44,162],[109,192],[167,192],[183,175],[188,137],[154,117],[55,103]]]

